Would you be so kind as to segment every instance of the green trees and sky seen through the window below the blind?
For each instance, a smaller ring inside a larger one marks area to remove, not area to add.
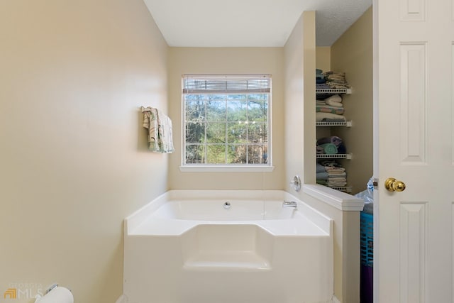
[[[184,164],[269,165],[270,89],[200,91],[183,94]]]

